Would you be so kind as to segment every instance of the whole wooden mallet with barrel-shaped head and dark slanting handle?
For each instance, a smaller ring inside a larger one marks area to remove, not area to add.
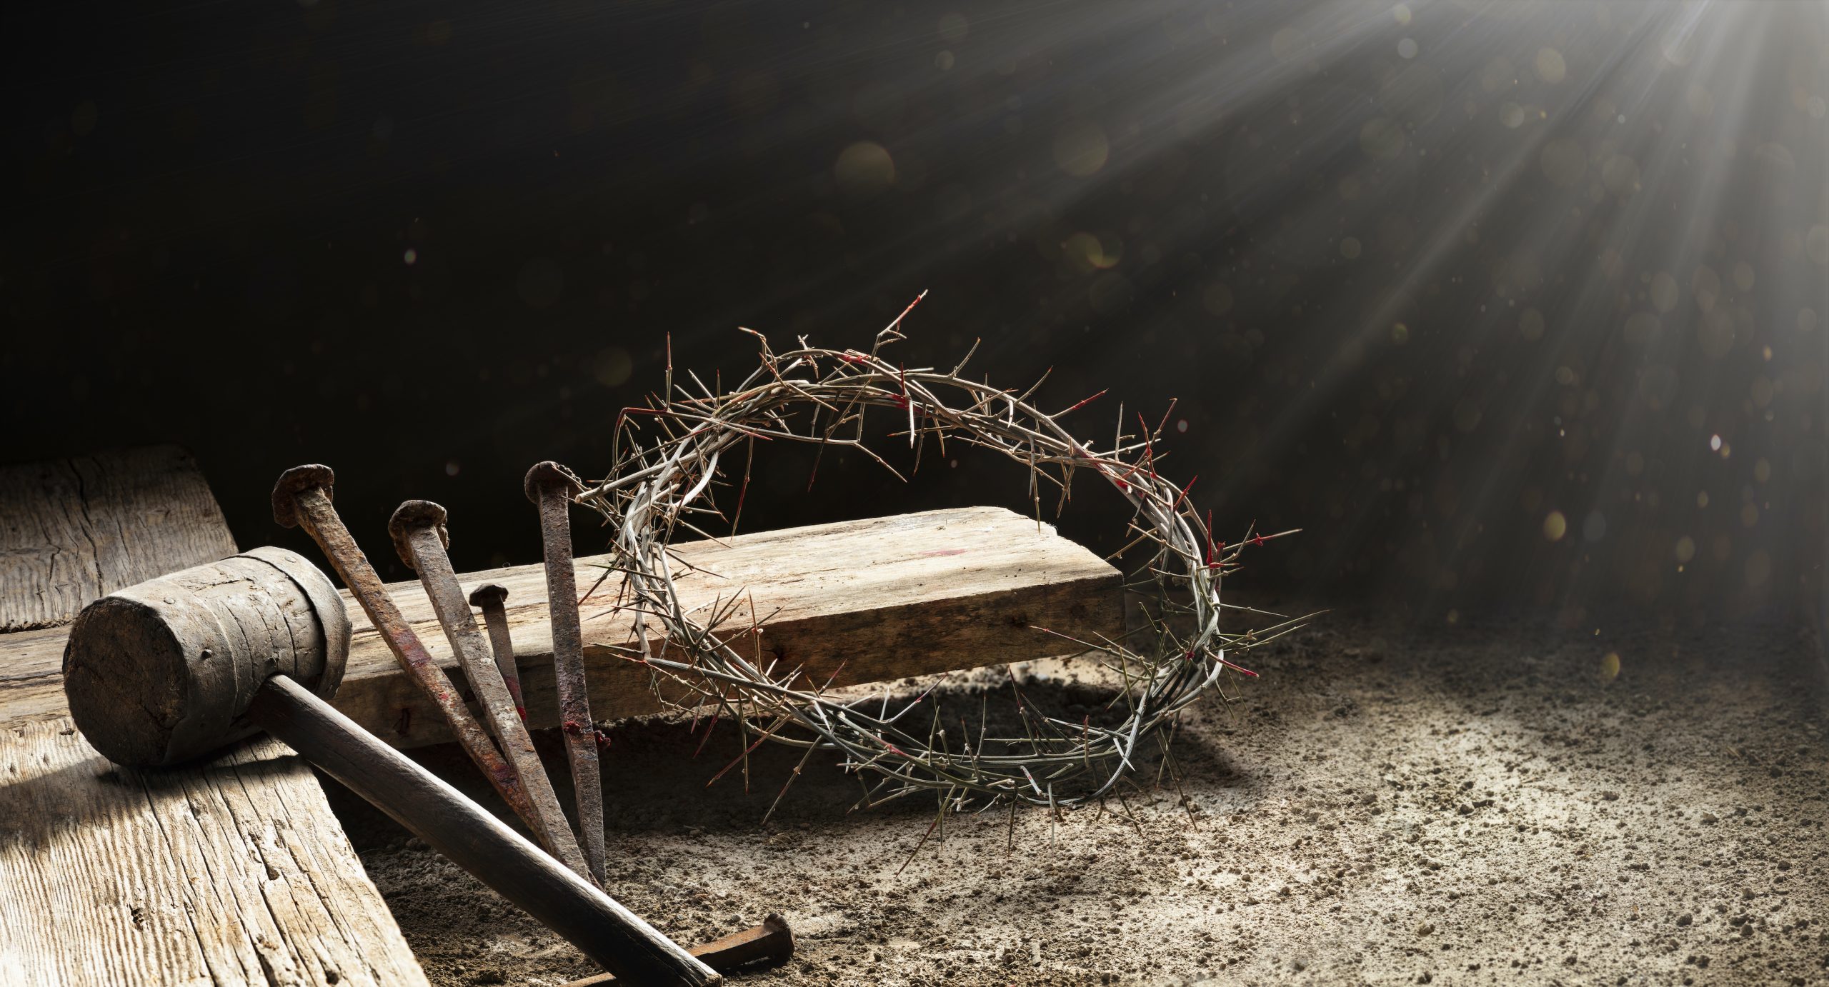
[[[126,766],[177,764],[267,731],[618,980],[719,982],[640,916],[333,709],[326,700],[348,653],[337,587],[294,552],[254,548],[90,603],[70,629],[64,691],[82,737]]]

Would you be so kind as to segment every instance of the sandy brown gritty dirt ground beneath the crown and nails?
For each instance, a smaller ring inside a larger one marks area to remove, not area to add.
[[[1128,815],[957,819],[911,861],[931,801],[847,813],[856,779],[808,766],[761,824],[796,753],[759,751],[746,795],[706,788],[735,735],[693,759],[684,724],[622,726],[609,888],[686,943],[785,914],[796,958],[743,983],[1829,983],[1829,691],[1794,627],[1328,614],[1251,662],[1242,702],[1180,731],[1185,806],[1165,784]],[[1072,663],[1022,674],[1043,706],[1108,695]],[[333,804],[433,983],[594,972]]]

